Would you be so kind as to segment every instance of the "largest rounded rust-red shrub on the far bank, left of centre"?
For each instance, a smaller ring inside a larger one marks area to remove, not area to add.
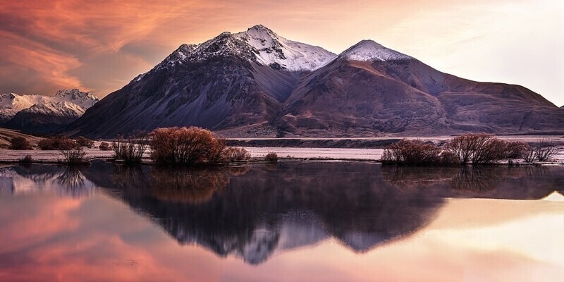
[[[151,137],[151,159],[157,164],[215,164],[224,156],[225,142],[203,128],[157,128]]]

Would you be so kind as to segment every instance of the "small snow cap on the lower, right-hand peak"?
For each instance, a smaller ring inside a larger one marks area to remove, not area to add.
[[[362,40],[346,49],[340,55],[350,61],[393,61],[406,60],[412,57],[398,51],[388,49],[372,40]]]

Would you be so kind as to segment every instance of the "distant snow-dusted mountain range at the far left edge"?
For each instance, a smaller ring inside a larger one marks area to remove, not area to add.
[[[59,90],[54,96],[0,94],[0,125],[30,133],[52,133],[98,101],[77,89]]]

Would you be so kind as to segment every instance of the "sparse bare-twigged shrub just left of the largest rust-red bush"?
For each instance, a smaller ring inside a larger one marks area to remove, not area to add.
[[[138,135],[137,137],[118,138],[111,142],[111,149],[114,150],[114,157],[121,159],[125,164],[139,164],[149,146],[149,137],[147,135]]]

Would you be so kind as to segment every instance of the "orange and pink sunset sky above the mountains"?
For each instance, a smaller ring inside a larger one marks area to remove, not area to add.
[[[257,24],[337,54],[373,39],[439,71],[564,105],[561,0],[0,0],[0,93],[105,97],[180,44]]]

